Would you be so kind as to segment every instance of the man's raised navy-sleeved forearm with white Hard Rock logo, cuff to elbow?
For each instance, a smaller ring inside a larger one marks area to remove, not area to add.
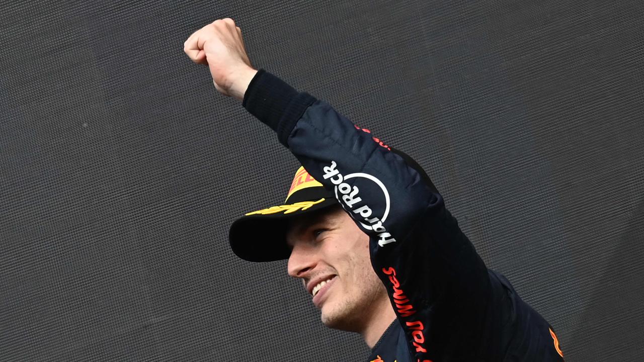
[[[407,234],[408,224],[439,202],[399,155],[330,104],[267,71],[252,79],[243,106],[276,131],[310,175],[328,189],[339,187],[336,195],[345,210],[380,247]]]

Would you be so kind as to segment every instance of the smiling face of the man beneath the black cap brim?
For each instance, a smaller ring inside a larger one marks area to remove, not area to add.
[[[296,218],[287,242],[289,275],[303,280],[327,327],[361,332],[391,308],[371,266],[368,236],[340,207]]]

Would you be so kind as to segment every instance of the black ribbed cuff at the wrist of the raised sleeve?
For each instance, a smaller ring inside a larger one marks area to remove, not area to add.
[[[242,106],[278,133],[279,142],[289,147],[287,139],[305,110],[316,99],[260,69],[243,96]]]

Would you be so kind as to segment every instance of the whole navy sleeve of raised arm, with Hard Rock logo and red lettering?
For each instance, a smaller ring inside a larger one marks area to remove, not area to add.
[[[243,106],[287,146],[370,236],[372,265],[412,361],[475,360],[491,341],[488,269],[426,176],[329,104],[265,70]]]

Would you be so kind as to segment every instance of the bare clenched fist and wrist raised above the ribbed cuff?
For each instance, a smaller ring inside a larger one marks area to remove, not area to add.
[[[208,66],[216,90],[239,100],[257,73],[248,59],[242,30],[230,18],[194,32],[185,41],[184,52],[193,62]]]

